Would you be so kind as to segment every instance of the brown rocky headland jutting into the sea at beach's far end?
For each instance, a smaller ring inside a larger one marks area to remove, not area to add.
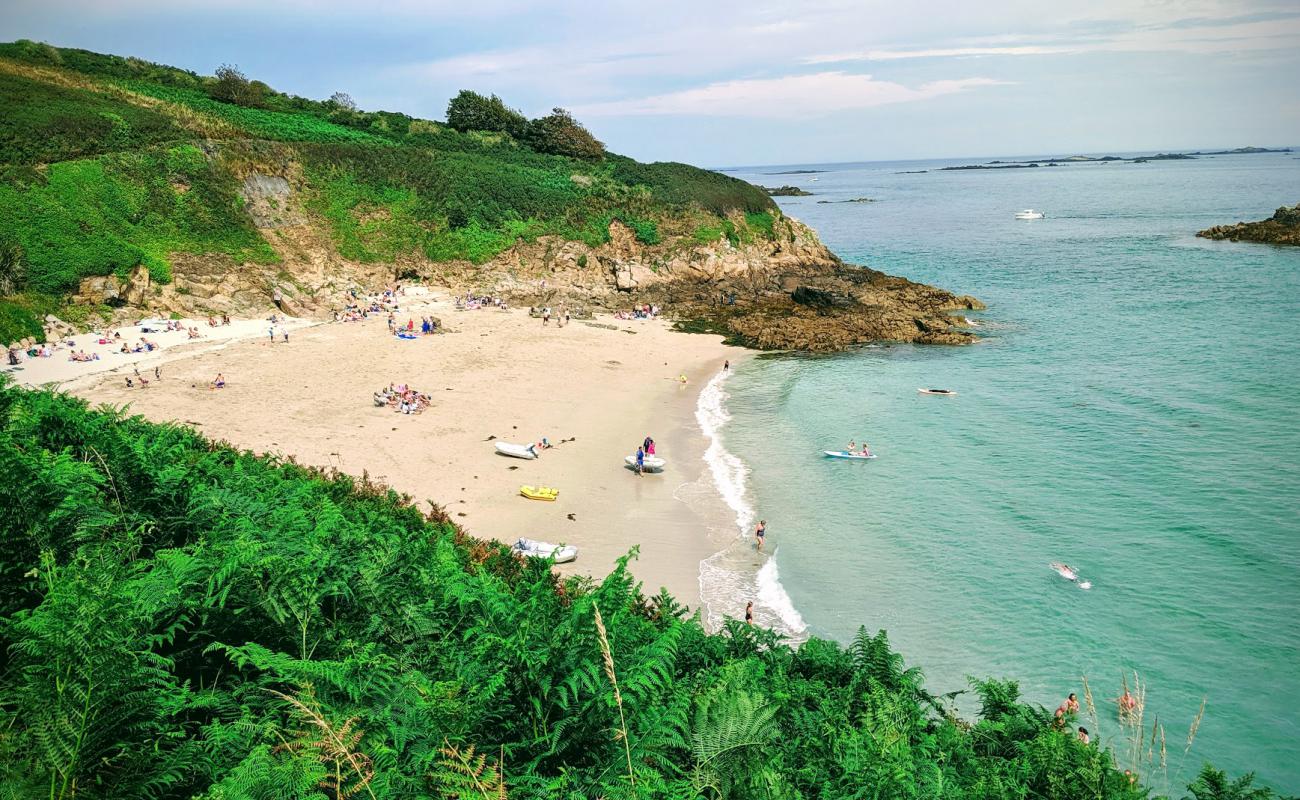
[[[720,238],[647,247],[614,222],[599,247],[542,237],[481,267],[443,265],[437,278],[516,304],[614,311],[656,303],[690,329],[764,350],[974,341],[949,313],[983,308],[979,300],[844,264],[794,220],[779,220],[776,233],[740,246]]]

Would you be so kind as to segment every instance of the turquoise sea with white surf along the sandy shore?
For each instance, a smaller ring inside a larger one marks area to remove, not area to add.
[[[775,550],[737,541],[706,600],[748,558],[759,622],[885,628],[936,693],[1014,678],[1052,709],[1087,676],[1117,749],[1136,673],[1153,784],[1210,760],[1300,792],[1300,248],[1195,237],[1300,202],[1300,151],[936,172],[987,160],[729,170],[815,193],[780,204],[846,260],[988,311],[975,346],[759,358],[706,390],[715,477]],[[850,438],[879,458],[822,457]]]

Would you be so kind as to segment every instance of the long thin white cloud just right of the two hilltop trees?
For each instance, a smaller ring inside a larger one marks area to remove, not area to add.
[[[789,118],[797,114],[819,116],[915,103],[1000,83],[1002,82],[991,78],[961,78],[932,81],[909,88],[901,83],[876,81],[871,75],[823,72],[783,78],[722,81],[647,98],[595,103],[575,111],[588,117],[670,114]]]

